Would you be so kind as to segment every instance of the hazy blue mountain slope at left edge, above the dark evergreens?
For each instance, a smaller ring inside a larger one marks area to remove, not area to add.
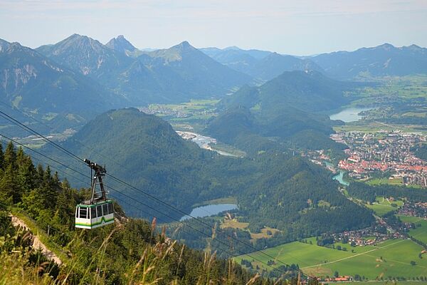
[[[120,105],[120,98],[92,78],[31,48],[0,40],[0,102],[1,110],[19,120],[35,117],[62,131],[82,125],[93,113]]]

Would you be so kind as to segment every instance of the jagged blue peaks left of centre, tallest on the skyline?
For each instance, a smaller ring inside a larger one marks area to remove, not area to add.
[[[127,105],[221,97],[251,81],[184,41],[158,51],[136,51],[123,36],[103,45],[74,34],[36,49],[53,61],[97,80]]]

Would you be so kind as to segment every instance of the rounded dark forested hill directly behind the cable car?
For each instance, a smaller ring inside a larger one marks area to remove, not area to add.
[[[97,116],[63,145],[80,157],[102,162],[108,173],[186,212],[196,202],[215,199],[228,192],[228,187],[217,183],[214,176],[206,175],[209,173],[206,167],[221,161],[216,152],[201,150],[194,142],[181,139],[169,123],[135,108],[111,110]],[[69,160],[55,148],[48,147],[46,151]],[[79,170],[87,171],[85,165],[73,160],[69,162]],[[75,183],[81,184],[78,181]],[[113,184],[111,179],[107,178],[107,183],[127,195],[147,200],[142,193]],[[112,195],[127,199],[114,190]],[[149,200],[149,203],[156,202]],[[154,207],[162,207],[164,212],[176,219],[182,215],[164,205],[154,204]],[[156,214],[150,209],[146,210],[152,216]],[[132,208],[129,208],[129,212],[140,214]],[[170,220],[162,216],[162,220],[165,219]]]

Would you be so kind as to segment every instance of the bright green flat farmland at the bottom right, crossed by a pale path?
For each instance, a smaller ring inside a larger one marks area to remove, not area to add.
[[[419,259],[418,254],[422,247],[408,239],[393,239],[382,242],[377,246],[347,247],[348,252],[315,244],[292,242],[278,247],[265,249],[265,253],[276,258],[274,266],[280,266],[280,261],[287,264],[298,264],[302,271],[315,276],[332,276],[335,271],[339,275],[359,274],[373,280],[389,276],[404,276],[406,279],[427,276],[427,259]],[[354,252],[351,252],[354,249]],[[251,253],[251,256],[267,263],[268,257],[263,254]],[[246,255],[236,257],[239,263],[242,259],[252,261]],[[415,261],[416,265],[411,265]],[[253,267],[270,269],[257,261],[252,262]]]

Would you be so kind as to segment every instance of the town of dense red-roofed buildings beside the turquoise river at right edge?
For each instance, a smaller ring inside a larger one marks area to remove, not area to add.
[[[381,130],[374,134],[362,132],[337,133],[330,136],[344,143],[345,160],[338,167],[349,177],[369,180],[380,173],[390,183],[427,187],[427,162],[416,157],[413,147],[426,142],[426,137],[401,131]]]

